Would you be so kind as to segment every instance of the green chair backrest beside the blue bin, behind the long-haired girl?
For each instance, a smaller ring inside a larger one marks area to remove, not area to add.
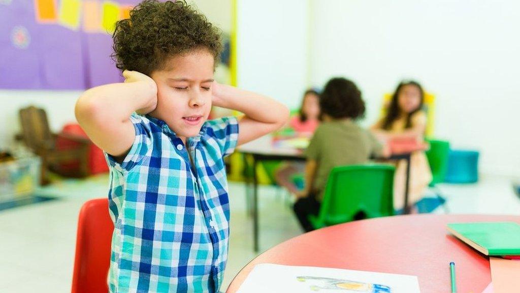
[[[430,150],[426,152],[433,177],[430,186],[435,186],[440,182],[444,182],[444,178],[446,177],[450,143],[448,141],[435,139],[426,139],[426,141],[430,143]]]

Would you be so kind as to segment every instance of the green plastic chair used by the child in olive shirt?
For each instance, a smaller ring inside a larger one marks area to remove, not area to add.
[[[309,221],[319,229],[362,218],[394,214],[394,172],[391,165],[340,166],[332,169],[317,216]]]

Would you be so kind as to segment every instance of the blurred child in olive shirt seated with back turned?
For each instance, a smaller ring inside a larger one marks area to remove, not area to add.
[[[320,95],[322,123],[305,151],[305,188],[297,193],[294,212],[305,231],[313,230],[309,214],[318,214],[332,168],[363,164],[371,156],[386,155],[382,145],[355,120],[365,114],[365,102],[354,82],[329,80]]]

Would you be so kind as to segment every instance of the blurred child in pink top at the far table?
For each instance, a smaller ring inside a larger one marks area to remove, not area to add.
[[[310,138],[319,125],[320,105],[317,91],[310,89],[305,92],[298,112],[298,115],[294,115],[289,120],[289,127],[294,130],[295,136]],[[299,190],[292,177],[302,174],[304,170],[303,162],[282,162],[275,171],[276,183],[287,188],[292,194],[296,194]]]

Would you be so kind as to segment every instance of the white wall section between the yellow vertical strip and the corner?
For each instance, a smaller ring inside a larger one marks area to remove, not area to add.
[[[296,108],[307,87],[307,0],[237,0],[238,86]]]

